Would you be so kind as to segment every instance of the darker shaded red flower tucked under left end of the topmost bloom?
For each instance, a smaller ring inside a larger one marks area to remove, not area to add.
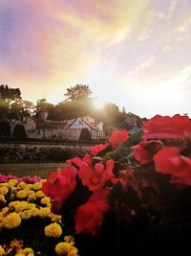
[[[137,146],[133,147],[134,156],[140,162],[145,165],[153,161],[153,156],[161,150],[162,144],[160,141],[141,141]]]

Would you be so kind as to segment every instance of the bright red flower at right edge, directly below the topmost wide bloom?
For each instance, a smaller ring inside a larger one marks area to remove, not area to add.
[[[156,170],[178,177],[191,174],[191,158],[180,155],[176,147],[167,147],[154,156]]]

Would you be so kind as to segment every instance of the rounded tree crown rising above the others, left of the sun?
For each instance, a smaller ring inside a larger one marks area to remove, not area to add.
[[[64,96],[67,97],[67,101],[74,100],[87,100],[90,99],[92,91],[89,85],[76,84],[74,87],[67,88],[67,93]]]

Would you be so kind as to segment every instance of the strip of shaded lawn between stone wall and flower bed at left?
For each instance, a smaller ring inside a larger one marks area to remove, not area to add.
[[[18,164],[0,164],[0,174],[3,175],[39,175],[47,177],[50,172],[58,168],[64,168],[64,163],[18,163]]]

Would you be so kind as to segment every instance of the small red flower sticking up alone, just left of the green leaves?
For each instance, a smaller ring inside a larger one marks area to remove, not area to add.
[[[128,131],[126,129],[114,130],[112,136],[109,139],[109,142],[112,144],[113,148],[117,148],[120,144],[128,139]]]

